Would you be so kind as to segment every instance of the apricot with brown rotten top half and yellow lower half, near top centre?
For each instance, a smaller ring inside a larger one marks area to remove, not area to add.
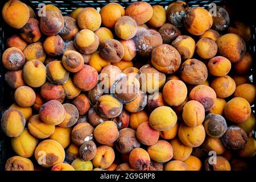
[[[137,23],[130,16],[121,16],[115,23],[114,30],[119,38],[129,40],[137,33]]]

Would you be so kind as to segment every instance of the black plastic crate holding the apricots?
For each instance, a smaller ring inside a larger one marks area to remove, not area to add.
[[[8,0],[0,1],[0,10],[2,11],[3,5]],[[62,0],[62,1],[44,1],[44,0],[20,0],[27,5],[31,6],[32,9],[37,10],[40,9],[38,7],[39,3],[44,4],[52,4],[57,6],[63,15],[69,15],[72,10],[77,7],[94,7],[97,10],[110,2],[119,3],[119,5],[123,7],[127,7],[130,3],[135,2],[136,0],[102,0],[102,1],[84,1],[84,0]],[[175,0],[144,0],[145,2],[150,3],[151,5],[161,5],[167,7],[170,3],[175,2]],[[255,76],[255,59],[256,59],[256,22],[255,22],[255,13],[253,10],[253,3],[251,1],[225,1],[225,0],[183,0],[189,4],[189,7],[201,6],[208,8],[210,3],[216,3],[217,6],[220,5],[229,5],[232,7],[234,13],[233,19],[241,20],[242,22],[246,22],[251,27],[251,38],[249,42],[246,43],[247,51],[251,53],[253,56],[253,70],[247,73],[250,77],[251,81],[256,85],[256,76]],[[2,60],[2,53],[6,49],[6,40],[9,36],[13,35],[17,30],[9,27],[4,20],[2,19],[2,15],[0,16],[0,59]],[[0,61],[0,118],[2,117],[3,111],[9,107],[13,100],[11,99],[11,89],[7,86],[5,82],[5,72],[6,70],[2,66],[2,61]],[[255,113],[255,107],[252,107],[253,112]],[[254,132],[255,138],[255,132]],[[0,130],[0,171],[4,169],[6,160],[15,155],[13,150],[11,149],[10,138],[6,137],[2,131]],[[255,158],[254,158],[255,159]]]

